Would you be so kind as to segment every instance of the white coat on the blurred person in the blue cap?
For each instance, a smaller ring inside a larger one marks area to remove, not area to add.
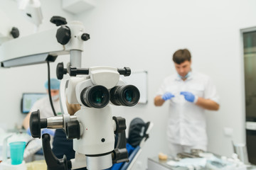
[[[54,101],[53,100],[53,107],[55,109],[55,113],[58,115],[58,113],[61,113],[61,109],[60,109],[60,100],[58,101]],[[50,99],[49,96],[43,97],[41,99],[39,99],[38,101],[36,101],[30,112],[33,111],[37,111],[39,109],[40,111],[40,118],[49,118],[49,117],[53,117],[53,110],[50,106]]]

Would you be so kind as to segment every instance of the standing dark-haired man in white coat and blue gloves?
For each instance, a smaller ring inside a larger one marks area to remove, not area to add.
[[[205,110],[218,111],[219,98],[210,77],[191,71],[191,53],[187,49],[174,52],[173,61],[177,74],[164,79],[154,104],[169,102],[169,154],[176,157],[191,149],[207,150]]]

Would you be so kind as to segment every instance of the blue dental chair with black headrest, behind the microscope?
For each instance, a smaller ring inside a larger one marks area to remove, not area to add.
[[[141,118],[134,118],[129,125],[129,133],[127,138],[127,151],[129,154],[129,162],[114,164],[110,170],[129,170],[136,162],[139,154],[142,152],[144,143],[149,138],[149,132],[153,127],[153,123],[144,121]]]

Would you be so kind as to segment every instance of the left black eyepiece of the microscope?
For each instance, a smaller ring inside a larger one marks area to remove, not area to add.
[[[80,94],[82,103],[90,108],[104,108],[110,102],[110,91],[105,86],[88,86]]]

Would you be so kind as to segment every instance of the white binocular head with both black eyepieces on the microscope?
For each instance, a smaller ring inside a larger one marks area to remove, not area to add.
[[[140,97],[139,89],[126,85],[113,67],[90,67],[88,77],[71,77],[68,89],[68,103],[90,108],[104,108],[108,103],[134,106]]]

